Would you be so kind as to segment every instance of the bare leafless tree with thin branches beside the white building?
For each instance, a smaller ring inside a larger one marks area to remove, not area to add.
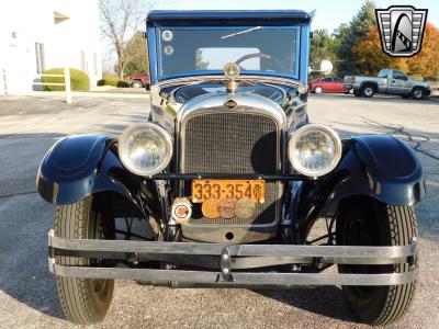
[[[99,0],[102,34],[111,42],[117,56],[116,71],[123,80],[124,71],[132,59],[127,41],[139,27],[145,15],[139,1],[136,0]]]

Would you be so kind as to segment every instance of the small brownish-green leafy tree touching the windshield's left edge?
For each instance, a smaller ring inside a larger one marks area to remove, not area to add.
[[[125,75],[148,71],[148,52],[146,49],[146,39],[142,32],[136,32],[125,47],[128,55],[128,61],[125,67]]]

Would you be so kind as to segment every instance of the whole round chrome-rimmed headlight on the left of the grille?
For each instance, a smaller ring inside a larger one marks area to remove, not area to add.
[[[159,173],[172,158],[172,137],[153,123],[132,125],[119,138],[119,157],[135,174]]]

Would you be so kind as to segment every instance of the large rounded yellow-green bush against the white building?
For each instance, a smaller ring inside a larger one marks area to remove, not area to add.
[[[48,69],[43,75],[64,75],[64,68]],[[64,83],[64,77],[42,77],[42,82]],[[90,90],[90,78],[86,72],[70,68],[70,86],[71,90],[88,91]],[[64,86],[44,86],[44,90],[65,91],[66,88]]]

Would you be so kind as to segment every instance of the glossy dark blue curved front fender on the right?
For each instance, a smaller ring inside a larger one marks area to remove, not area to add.
[[[337,168],[316,181],[306,181],[295,196],[299,240],[314,220],[352,195],[365,195],[390,205],[413,205],[425,196],[423,168],[413,150],[389,135],[344,140]]]

